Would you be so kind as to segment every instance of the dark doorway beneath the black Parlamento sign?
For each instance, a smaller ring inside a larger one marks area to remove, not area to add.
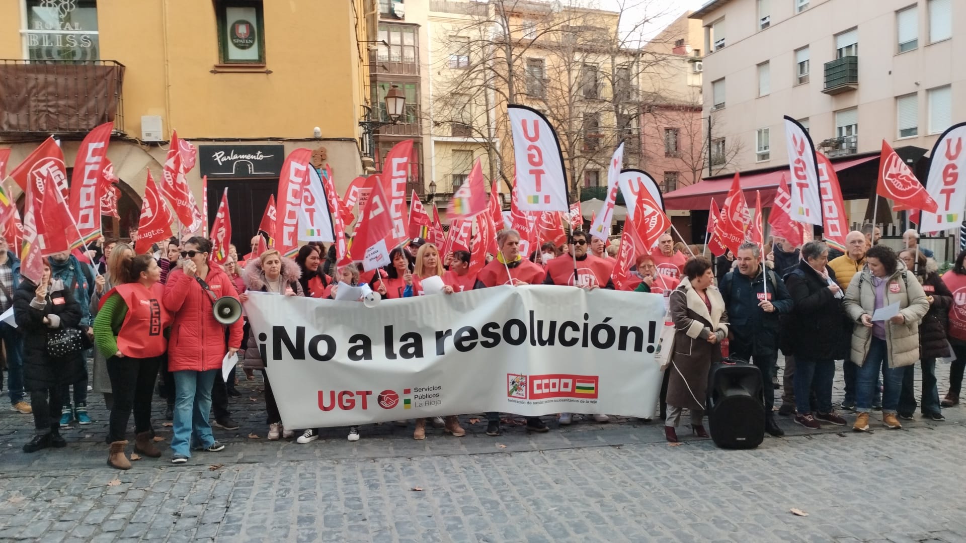
[[[278,180],[227,180],[208,181],[208,223],[213,224],[218,213],[221,194],[228,188],[228,214],[232,219],[232,243],[239,255],[248,254],[250,242],[262,222],[262,214],[269,205],[269,196],[278,189]]]

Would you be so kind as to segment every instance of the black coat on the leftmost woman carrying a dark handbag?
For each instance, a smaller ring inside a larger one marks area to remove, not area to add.
[[[59,281],[58,290],[47,290],[46,306],[37,309],[30,305],[35,298],[36,285],[24,278],[14,291],[14,319],[23,337],[23,385],[27,390],[42,390],[54,386],[72,385],[84,378],[83,353],[71,357],[47,355],[47,328],[43,318],[49,314],[60,317],[64,329],[76,329],[80,325],[80,305],[70,288]],[[51,288],[54,285],[51,285]],[[53,303],[53,300],[64,300]]]

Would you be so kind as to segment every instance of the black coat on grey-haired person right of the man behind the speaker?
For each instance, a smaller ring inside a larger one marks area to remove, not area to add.
[[[835,281],[835,272],[828,267],[826,272]],[[795,308],[781,321],[785,356],[815,360],[848,357],[853,325],[842,309],[842,299],[829,290],[829,283],[802,261],[785,277],[785,286],[795,301]],[[844,296],[845,289],[841,293]]]

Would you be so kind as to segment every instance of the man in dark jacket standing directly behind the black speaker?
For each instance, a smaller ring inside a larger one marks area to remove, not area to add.
[[[771,382],[779,355],[779,315],[791,312],[793,302],[781,278],[762,266],[756,243],[742,243],[735,261],[738,270],[726,273],[718,285],[734,335],[728,350],[731,357],[750,360],[761,370],[765,430],[781,437],[784,432],[772,413],[775,388]]]

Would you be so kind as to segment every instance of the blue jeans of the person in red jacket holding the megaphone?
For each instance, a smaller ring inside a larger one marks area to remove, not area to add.
[[[218,371],[212,369],[172,372],[175,376],[172,454],[190,457],[192,441],[206,447],[214,443],[212,424],[208,421],[208,414],[212,411],[212,386],[214,375]]]

